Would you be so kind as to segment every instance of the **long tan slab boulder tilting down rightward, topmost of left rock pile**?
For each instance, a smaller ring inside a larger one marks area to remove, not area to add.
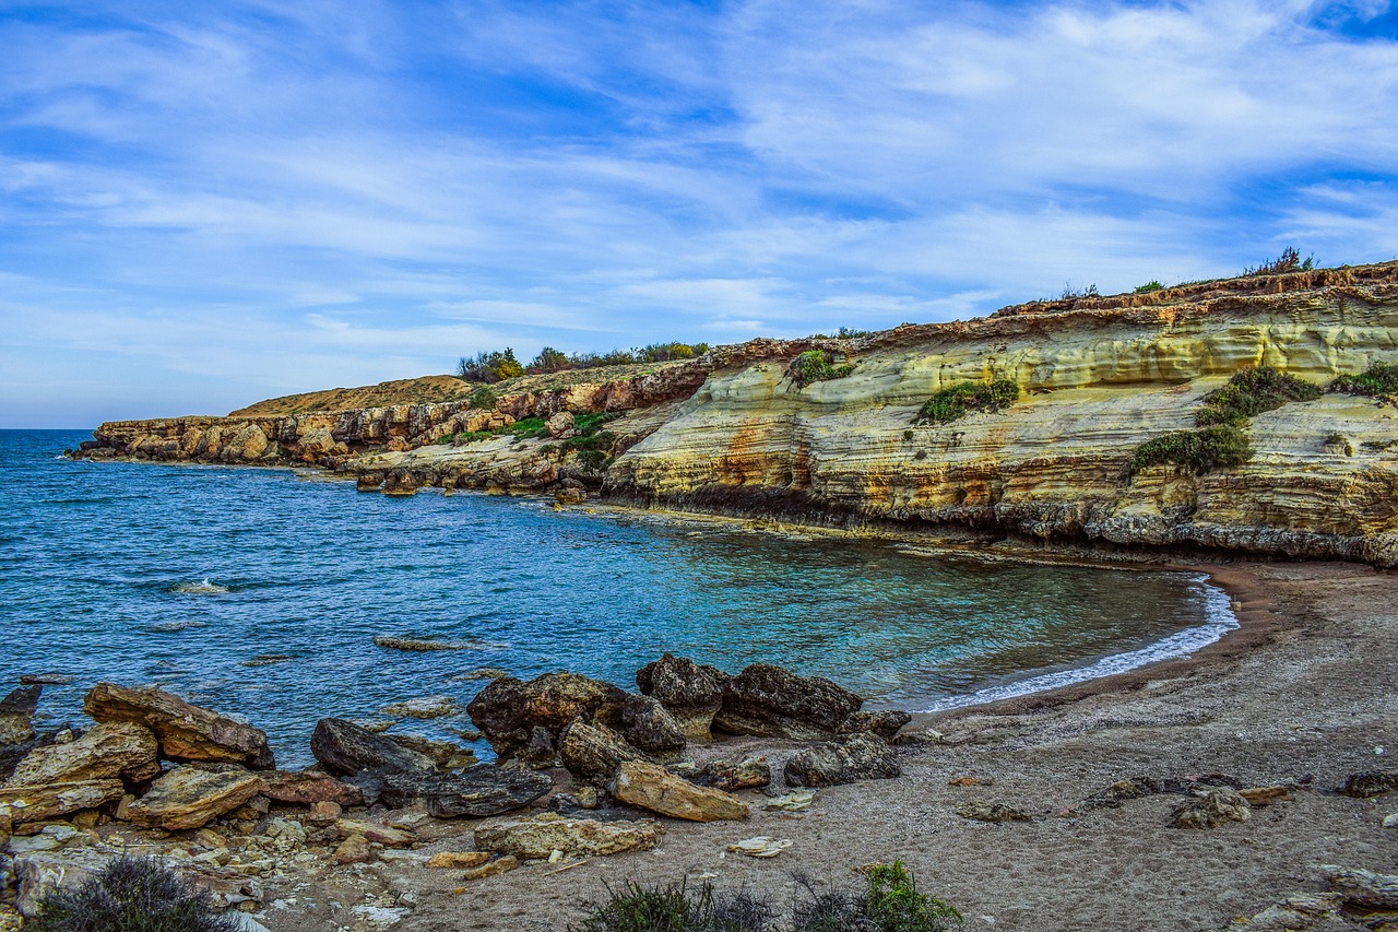
[[[271,770],[267,733],[245,722],[200,708],[155,687],[127,689],[98,683],[82,709],[102,723],[134,722],[155,732],[161,754],[180,761],[224,761]]]

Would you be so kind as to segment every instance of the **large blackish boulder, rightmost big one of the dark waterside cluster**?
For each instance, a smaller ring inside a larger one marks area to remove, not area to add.
[[[835,735],[863,701],[830,680],[754,663],[724,686],[713,728],[730,735],[815,740]]]

